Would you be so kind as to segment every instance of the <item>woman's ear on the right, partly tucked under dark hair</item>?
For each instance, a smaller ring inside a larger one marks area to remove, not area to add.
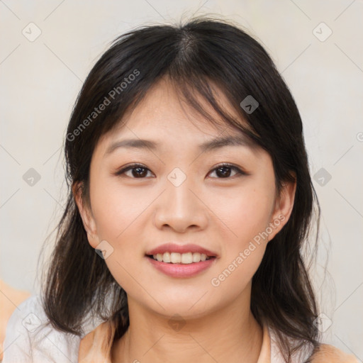
[[[272,233],[269,234],[268,240],[272,240],[277,233],[286,225],[291,216],[291,211],[294,207],[294,199],[296,192],[296,177],[294,181],[284,181],[281,191],[276,198],[274,211],[270,220],[270,225],[273,226]]]

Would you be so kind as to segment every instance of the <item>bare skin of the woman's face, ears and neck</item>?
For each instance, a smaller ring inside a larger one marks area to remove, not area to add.
[[[238,117],[220,92],[218,101]],[[112,362],[179,363],[196,357],[200,363],[257,362],[262,327],[250,311],[251,281],[267,243],[289,219],[296,185],[285,183],[277,195],[271,157],[259,147],[232,145],[201,153],[199,144],[241,132],[206,121],[181,103],[165,79],[123,121],[99,140],[92,155],[90,205],[75,192],[90,245],[106,240],[113,247],[105,261],[128,294],[130,327],[113,345]],[[160,145],[152,151],[118,147],[107,153],[127,138]],[[147,169],[116,175],[131,163]],[[221,163],[247,174],[227,167],[223,177],[217,171]],[[167,179],[175,167],[186,176],[180,186]],[[211,280],[278,219],[268,238],[213,286]],[[168,277],[145,257],[165,242],[194,243],[218,258],[195,277]],[[185,323],[180,330],[169,324],[174,314]]]

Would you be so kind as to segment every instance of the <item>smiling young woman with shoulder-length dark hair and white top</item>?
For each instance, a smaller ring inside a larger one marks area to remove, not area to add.
[[[42,301],[22,307],[39,321],[19,333],[28,358],[15,342],[5,363],[356,362],[320,344],[301,118],[244,31],[204,18],[122,35],[84,82],[65,156]]]

